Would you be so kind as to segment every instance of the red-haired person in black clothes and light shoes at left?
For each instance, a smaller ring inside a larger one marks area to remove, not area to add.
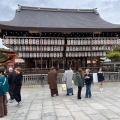
[[[16,106],[20,107],[22,105],[21,102],[21,86],[22,86],[22,73],[21,73],[21,68],[15,68],[15,80],[14,80],[14,91],[13,95],[15,100],[18,102]]]

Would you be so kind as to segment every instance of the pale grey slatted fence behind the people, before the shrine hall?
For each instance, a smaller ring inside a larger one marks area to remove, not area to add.
[[[57,83],[62,83],[63,73],[59,73],[57,77]],[[75,74],[73,76],[74,80]],[[120,82],[119,72],[104,72],[105,82]],[[36,86],[48,84],[47,74],[27,74],[23,75],[23,86]]]

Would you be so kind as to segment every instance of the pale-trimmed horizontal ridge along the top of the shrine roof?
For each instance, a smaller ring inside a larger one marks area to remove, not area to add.
[[[36,10],[36,11],[61,11],[61,12],[92,12],[97,13],[97,8],[94,9],[65,9],[65,8],[43,8],[43,7],[28,7],[18,5],[18,10]]]

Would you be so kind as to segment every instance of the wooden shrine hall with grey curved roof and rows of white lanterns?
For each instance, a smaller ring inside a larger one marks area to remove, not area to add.
[[[25,60],[25,68],[98,70],[100,57],[120,44],[120,25],[103,20],[97,9],[18,6],[0,21],[3,44]]]

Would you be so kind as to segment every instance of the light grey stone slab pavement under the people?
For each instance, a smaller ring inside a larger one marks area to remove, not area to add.
[[[15,101],[8,103],[8,115],[0,120],[120,120],[120,83],[104,83],[104,92],[95,83],[92,98],[84,100],[76,98],[76,86],[73,96],[66,96],[61,85],[58,88],[56,97],[50,96],[48,85],[22,88],[22,107],[15,107]]]

